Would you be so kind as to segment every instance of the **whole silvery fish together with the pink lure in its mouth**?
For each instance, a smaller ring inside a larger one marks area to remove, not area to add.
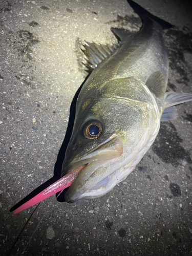
[[[105,195],[134,170],[155,141],[161,121],[177,118],[175,105],[192,100],[192,94],[167,91],[162,30],[172,25],[127,2],[141,17],[141,29],[112,28],[118,44],[83,45],[92,72],[78,95],[61,178],[15,214],[66,187],[68,203]]]

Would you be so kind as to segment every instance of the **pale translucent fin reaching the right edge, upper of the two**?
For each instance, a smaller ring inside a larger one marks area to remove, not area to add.
[[[165,93],[165,108],[169,108],[170,106],[174,106],[191,100],[192,94],[167,92]]]

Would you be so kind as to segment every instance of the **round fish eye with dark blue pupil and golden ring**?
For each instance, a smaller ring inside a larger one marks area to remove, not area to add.
[[[88,139],[96,139],[101,135],[102,125],[99,121],[90,120],[83,127],[84,136]]]

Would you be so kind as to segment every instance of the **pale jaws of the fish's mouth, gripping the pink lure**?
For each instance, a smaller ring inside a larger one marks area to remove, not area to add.
[[[113,135],[88,155],[79,160],[73,160],[68,166],[68,171],[82,165],[84,167],[66,192],[66,202],[73,203],[82,198],[96,198],[104,195],[106,187],[110,185],[108,177],[115,172],[111,162],[122,153],[122,140],[118,135]]]

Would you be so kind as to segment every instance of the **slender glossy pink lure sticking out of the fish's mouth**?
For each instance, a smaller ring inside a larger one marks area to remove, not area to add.
[[[34,204],[37,204],[41,202],[42,200],[56,194],[57,192],[65,189],[66,187],[71,186],[74,179],[77,177],[77,175],[81,172],[84,167],[86,167],[87,164],[81,165],[78,168],[71,170],[70,173],[66,174],[62,178],[60,178],[58,181],[51,184],[46,189],[42,190],[39,194],[31,198],[29,201],[24,203],[23,205],[19,206],[17,209],[14,210],[14,214],[18,214],[18,212],[25,210],[29,208],[30,206],[33,206]]]

